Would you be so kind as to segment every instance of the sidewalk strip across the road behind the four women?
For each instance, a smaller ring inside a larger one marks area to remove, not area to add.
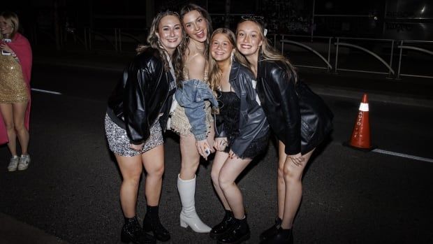
[[[70,66],[100,71],[122,72],[132,59],[133,52],[34,52],[34,64]],[[328,73],[317,69],[299,69],[300,77],[314,92],[321,95],[361,99],[369,95],[369,101],[397,103],[408,106],[433,108],[433,80],[404,77],[388,79],[366,73]]]

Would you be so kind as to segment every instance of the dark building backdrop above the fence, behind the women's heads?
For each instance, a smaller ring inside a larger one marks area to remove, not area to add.
[[[427,0],[16,0],[1,3],[0,10],[17,12],[34,43],[59,46],[59,39],[84,36],[86,29],[110,35],[117,28],[143,40],[159,10],[189,2],[209,10],[214,28],[235,29],[242,15],[255,14],[265,17],[273,34],[433,39],[433,2]]]

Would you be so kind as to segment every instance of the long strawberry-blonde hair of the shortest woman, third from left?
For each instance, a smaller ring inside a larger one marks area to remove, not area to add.
[[[239,62],[240,64],[249,68],[249,63],[247,62],[247,59],[245,59],[245,57],[243,55],[241,55],[239,52],[237,52],[236,36],[233,33],[233,31],[230,31],[230,29],[227,29],[227,28],[216,29],[214,31],[214,33],[212,33],[212,36],[210,37],[210,41],[212,41],[212,38],[214,38],[214,36],[217,34],[224,34],[228,38],[228,41],[230,41],[231,45],[233,46],[233,49],[235,50],[234,59],[237,62]],[[212,89],[212,91],[217,91],[217,89],[219,88],[223,74],[219,70],[218,64],[215,61],[215,59],[212,58],[210,50],[209,50],[209,62],[208,63],[209,63],[209,75],[208,76],[209,76],[210,88]]]

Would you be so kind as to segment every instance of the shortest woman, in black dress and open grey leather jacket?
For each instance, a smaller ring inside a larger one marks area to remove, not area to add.
[[[210,42],[210,84],[218,93],[220,104],[211,175],[226,210],[221,223],[210,231],[210,237],[218,243],[249,239],[242,192],[235,180],[254,157],[265,152],[270,132],[256,99],[254,76],[234,58],[235,52],[235,34],[226,28],[215,30]]]

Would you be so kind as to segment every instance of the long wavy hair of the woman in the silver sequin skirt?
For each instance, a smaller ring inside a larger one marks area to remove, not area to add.
[[[172,15],[172,16],[177,17],[177,19],[179,19],[179,22],[182,23],[182,21],[180,20],[179,14],[176,12],[173,12],[170,10],[165,10],[161,13],[158,13],[154,17],[154,20],[152,20],[152,25],[150,27],[149,35],[147,36],[147,43],[149,43],[149,45],[139,45],[138,48],[136,49],[138,54],[145,51],[149,46],[158,50],[159,56],[161,56],[161,59],[163,60],[164,71],[166,71],[166,72],[170,71],[170,64],[168,63],[168,60],[167,60],[168,52],[161,45],[158,36],[156,36],[156,32],[158,32],[159,23],[161,22],[161,19],[163,17],[166,17],[167,15]],[[171,62],[173,64],[173,68],[175,69],[175,76],[176,77],[178,76],[178,73],[182,72],[182,45],[185,45],[183,40],[177,46],[175,52],[173,52],[173,55],[172,55],[172,61]]]

